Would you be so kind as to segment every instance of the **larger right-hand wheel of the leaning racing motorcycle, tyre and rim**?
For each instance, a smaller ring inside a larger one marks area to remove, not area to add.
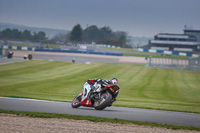
[[[101,95],[101,99],[94,102],[94,108],[96,110],[103,110],[105,109],[111,102],[112,95],[110,93],[103,93]]]

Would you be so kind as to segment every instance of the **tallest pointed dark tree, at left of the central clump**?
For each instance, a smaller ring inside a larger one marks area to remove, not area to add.
[[[72,42],[75,43],[81,42],[83,40],[83,30],[80,24],[77,24],[73,27],[69,38]]]

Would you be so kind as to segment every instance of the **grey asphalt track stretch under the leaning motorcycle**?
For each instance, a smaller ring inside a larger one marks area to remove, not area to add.
[[[168,125],[200,127],[200,114],[172,112],[126,107],[107,107],[102,111],[89,107],[72,108],[69,102],[56,102],[21,98],[0,97],[0,109],[45,112],[57,114],[72,114],[118,118],[131,121],[152,122]]]

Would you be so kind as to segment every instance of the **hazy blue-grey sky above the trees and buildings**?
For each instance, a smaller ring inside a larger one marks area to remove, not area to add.
[[[130,36],[200,30],[200,0],[0,0],[0,22],[72,30],[109,26]]]

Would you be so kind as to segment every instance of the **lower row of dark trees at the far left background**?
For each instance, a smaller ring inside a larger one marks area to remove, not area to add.
[[[38,33],[31,33],[29,30],[19,31],[18,29],[7,28],[0,31],[0,39],[14,39],[14,40],[28,40],[32,42],[42,42],[45,41],[46,33],[40,31]]]

